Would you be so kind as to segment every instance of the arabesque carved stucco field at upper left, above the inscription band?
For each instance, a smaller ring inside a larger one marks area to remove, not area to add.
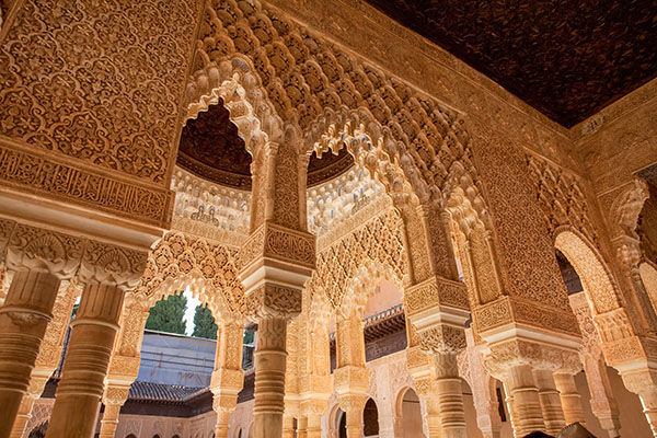
[[[0,47],[0,134],[165,183],[199,5],[22,2]]]

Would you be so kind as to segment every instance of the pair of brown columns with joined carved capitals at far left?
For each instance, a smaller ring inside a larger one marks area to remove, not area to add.
[[[2,221],[10,232],[0,244],[13,278],[0,308],[0,437],[22,433],[32,399],[57,366],[74,301],[60,287],[73,275],[81,302],[47,436],[91,436],[124,293],[138,281],[147,253]]]

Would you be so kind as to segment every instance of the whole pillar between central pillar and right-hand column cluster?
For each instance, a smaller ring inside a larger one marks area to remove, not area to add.
[[[433,361],[440,430],[465,438],[463,394],[457,355],[465,348],[468,292],[459,280],[448,217],[436,205],[400,207],[406,229],[412,286],[404,291],[406,318],[419,347]]]

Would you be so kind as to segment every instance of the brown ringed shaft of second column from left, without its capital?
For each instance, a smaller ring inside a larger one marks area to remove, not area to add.
[[[84,287],[47,438],[93,436],[104,380],[118,330],[124,292],[110,284]]]

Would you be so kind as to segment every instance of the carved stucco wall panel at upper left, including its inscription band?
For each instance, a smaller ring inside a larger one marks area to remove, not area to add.
[[[2,184],[166,223],[201,3],[18,2],[0,33]]]

